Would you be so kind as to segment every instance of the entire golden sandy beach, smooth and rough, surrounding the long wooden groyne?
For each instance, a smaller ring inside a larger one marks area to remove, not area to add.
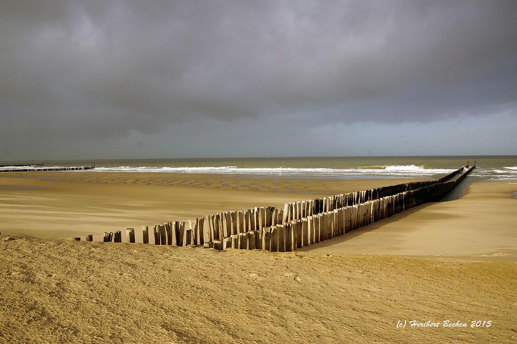
[[[514,342],[516,184],[471,185],[286,253],[72,242],[126,226],[401,183],[224,175],[0,177],[7,342]],[[66,240],[58,240],[66,239]],[[399,321],[438,327],[398,329]],[[443,321],[466,327],[444,327]],[[491,321],[490,327],[471,327]]]

